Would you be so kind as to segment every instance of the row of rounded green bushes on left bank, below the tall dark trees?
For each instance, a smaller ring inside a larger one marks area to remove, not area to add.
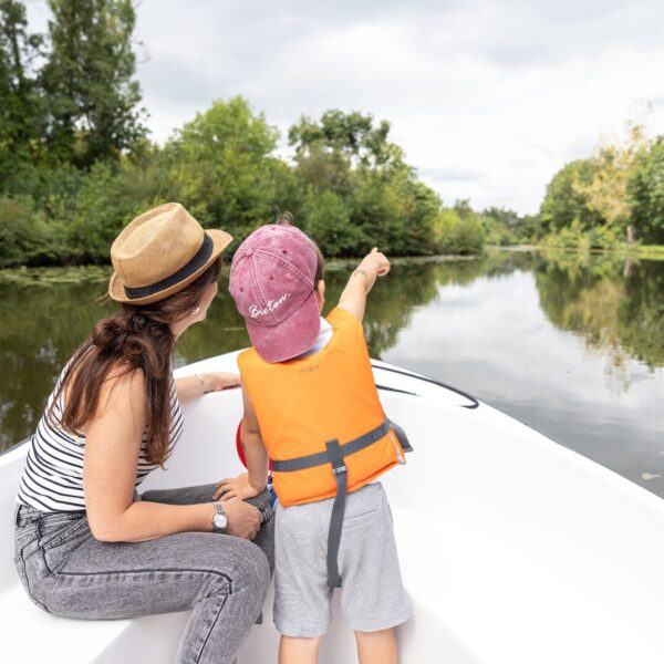
[[[288,209],[328,256],[374,246],[391,256],[481,249],[477,214],[467,203],[452,217],[440,211],[436,193],[387,141],[386,123],[371,128],[371,117],[340,112],[324,118],[324,139],[298,148],[292,166],[276,156],[277,128],[241,97],[215,102],[164,148],[141,141],[131,155],[89,169],[30,165],[0,193],[1,264],[105,262],[127,221],[169,200],[204,227],[231,232],[234,247]],[[500,242],[508,239],[502,232]]]

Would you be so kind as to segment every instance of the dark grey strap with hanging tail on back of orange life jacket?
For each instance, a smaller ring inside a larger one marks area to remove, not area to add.
[[[294,459],[272,459],[272,470],[276,473],[290,473],[294,470],[307,470],[317,466],[332,465],[332,475],[336,481],[336,495],[332,505],[332,516],[330,517],[330,531],[328,532],[328,585],[330,588],[341,588],[341,577],[339,575],[339,547],[341,543],[341,531],[343,529],[343,517],[345,513],[345,499],[347,492],[347,468],[345,457],[351,456],[377,443],[386,436],[392,428],[398,439],[403,452],[413,452],[408,442],[406,432],[385,418],[381,426],[371,432],[341,445],[339,440],[328,440],[326,450],[317,454],[298,457]]]

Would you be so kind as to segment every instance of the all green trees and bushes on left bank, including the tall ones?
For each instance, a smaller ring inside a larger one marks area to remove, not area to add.
[[[106,262],[134,216],[181,201],[241,241],[290,210],[326,256],[481,250],[468,209],[418,179],[390,124],[328,111],[280,134],[241,97],[220,100],[157,145],[135,77],[129,0],[49,0],[48,34],[0,0],[0,267]]]

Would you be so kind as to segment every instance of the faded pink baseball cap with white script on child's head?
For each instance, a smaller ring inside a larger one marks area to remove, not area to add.
[[[317,267],[313,242],[294,226],[262,226],[236,251],[228,289],[266,362],[297,357],[317,340]]]

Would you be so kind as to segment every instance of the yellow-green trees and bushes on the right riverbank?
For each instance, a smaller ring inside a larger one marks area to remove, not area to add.
[[[537,215],[490,208],[479,215],[489,245],[621,251],[664,258],[664,136],[627,123],[623,139],[566,164]]]

